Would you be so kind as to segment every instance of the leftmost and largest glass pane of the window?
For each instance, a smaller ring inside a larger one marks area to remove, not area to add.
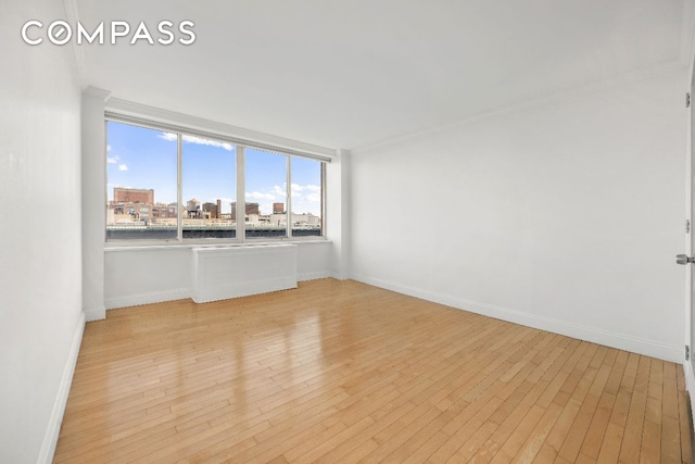
[[[106,240],[175,239],[176,171],[176,138],[108,122]]]

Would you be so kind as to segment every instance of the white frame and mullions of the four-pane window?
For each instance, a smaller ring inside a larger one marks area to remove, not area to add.
[[[150,118],[132,116],[129,114],[121,114],[116,112],[104,112],[104,151],[109,141],[109,122],[119,123],[119,124],[128,124],[136,127],[141,127],[146,129],[161,130],[164,133],[176,134],[177,136],[177,180],[176,180],[176,189],[177,189],[177,233],[176,238],[164,238],[164,239],[106,239],[106,234],[104,234],[104,241],[106,247],[118,248],[118,247],[149,247],[149,246],[224,246],[224,244],[262,244],[266,242],[301,242],[301,241],[325,241],[327,240],[326,235],[326,164],[331,162],[331,158],[324,155],[312,153],[303,150],[298,150],[293,148],[279,147],[265,142],[257,142],[253,140],[247,140],[239,137],[233,137],[226,134],[213,133],[207,130],[195,129],[192,127],[186,127],[181,125],[174,125],[162,123],[157,121],[153,121]],[[237,208],[237,229],[235,238],[184,238],[184,171],[182,171],[182,162],[184,162],[184,137],[192,136],[192,137],[201,137],[208,140],[231,143],[235,146],[235,163],[236,163],[236,181],[237,181],[237,199],[236,199],[236,208]],[[238,222],[239,211],[243,211],[245,214],[245,149],[256,149],[262,151],[267,151],[270,153],[279,154],[286,158],[286,223],[287,230],[286,237],[264,237],[264,238],[247,238],[245,237],[245,222],[241,222],[241,225]],[[305,237],[294,237],[292,235],[292,173],[291,173],[291,160],[292,156],[300,156],[309,160],[314,160],[320,163],[320,236],[305,236]],[[104,156],[104,175],[105,173],[105,156]],[[108,185],[106,183],[104,183]],[[108,195],[108,192],[106,192]],[[104,231],[106,230],[108,225],[104,223]]]

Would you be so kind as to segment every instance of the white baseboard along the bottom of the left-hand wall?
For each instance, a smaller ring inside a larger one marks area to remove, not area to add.
[[[55,396],[55,403],[53,403],[53,411],[48,422],[48,428],[46,436],[43,437],[43,443],[41,443],[41,450],[39,451],[39,457],[37,463],[51,463],[53,461],[53,454],[55,454],[55,446],[58,444],[58,437],[61,432],[61,424],[63,423],[63,414],[65,413],[65,405],[67,404],[67,396],[70,394],[70,387],[73,384],[73,374],[75,374],[75,366],[77,365],[77,355],[79,354],[79,347],[83,341],[83,334],[85,331],[85,313],[79,315],[77,327],[75,328],[75,335],[73,336],[73,342],[67,354],[67,361],[63,368],[63,377]]]

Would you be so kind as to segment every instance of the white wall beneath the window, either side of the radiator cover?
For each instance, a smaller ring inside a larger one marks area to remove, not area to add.
[[[298,279],[329,277],[330,241],[298,244]],[[104,303],[106,309],[179,300],[192,296],[190,246],[108,248]]]

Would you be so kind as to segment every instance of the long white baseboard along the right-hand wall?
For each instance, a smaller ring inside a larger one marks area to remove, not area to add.
[[[664,344],[654,340],[631,337],[623,334],[597,329],[594,327],[581,326],[578,324],[553,319],[549,317],[536,316],[521,311],[478,303],[475,301],[469,301],[447,294],[432,293],[418,288],[406,287],[400,284],[394,284],[365,275],[356,274],[353,275],[352,278],[365,284],[372,285],[375,287],[380,287],[410,297],[420,298],[422,300],[445,304],[458,310],[469,311],[471,313],[477,313],[484,316],[520,324],[527,327],[538,328],[541,330],[547,330],[554,334],[560,334],[567,337],[578,338],[580,340],[586,340],[593,343],[617,348],[619,350],[631,351],[633,353],[643,354],[646,356],[657,358],[679,364],[683,363],[682,346]]]

